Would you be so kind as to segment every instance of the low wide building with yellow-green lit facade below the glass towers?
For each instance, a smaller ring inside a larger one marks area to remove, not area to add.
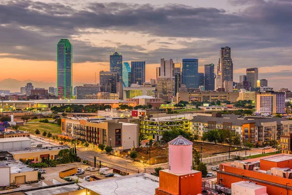
[[[143,85],[131,84],[130,87],[124,87],[123,98],[134,98],[136,96],[156,97],[155,87],[144,87]]]

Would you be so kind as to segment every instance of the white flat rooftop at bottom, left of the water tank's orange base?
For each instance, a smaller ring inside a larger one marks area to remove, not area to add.
[[[100,195],[154,195],[159,187],[159,177],[140,173],[78,185]]]

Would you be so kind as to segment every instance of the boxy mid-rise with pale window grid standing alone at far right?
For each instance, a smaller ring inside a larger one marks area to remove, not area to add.
[[[260,92],[256,94],[256,111],[268,114],[285,113],[284,92]]]

